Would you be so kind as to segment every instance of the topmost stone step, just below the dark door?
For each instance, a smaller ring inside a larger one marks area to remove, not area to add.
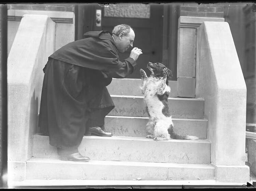
[[[113,95],[140,95],[140,84],[141,79],[115,79],[113,78],[110,85],[107,86],[110,94]],[[169,86],[171,88],[171,93],[169,97],[177,97],[178,91],[178,83],[177,81],[169,81]]]

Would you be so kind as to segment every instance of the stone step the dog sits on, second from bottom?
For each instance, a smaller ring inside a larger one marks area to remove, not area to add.
[[[145,137],[84,136],[79,152],[92,160],[197,163],[211,162],[211,143],[203,140],[154,141]],[[32,156],[58,158],[57,149],[49,145],[49,137],[34,135]]]

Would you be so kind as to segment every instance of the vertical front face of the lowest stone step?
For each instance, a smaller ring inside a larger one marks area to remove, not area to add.
[[[36,170],[35,170],[36,169]],[[28,162],[26,179],[198,180],[213,179],[214,169]]]

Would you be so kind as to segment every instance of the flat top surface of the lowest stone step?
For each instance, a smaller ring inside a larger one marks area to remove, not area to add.
[[[211,164],[188,164],[188,163],[167,163],[167,162],[139,162],[139,161],[114,161],[114,160],[90,160],[88,162],[63,161],[58,158],[30,158],[27,163],[69,163],[69,164],[90,164],[90,165],[115,165],[115,166],[143,166],[143,167],[167,167],[167,168],[200,168],[214,169]]]

